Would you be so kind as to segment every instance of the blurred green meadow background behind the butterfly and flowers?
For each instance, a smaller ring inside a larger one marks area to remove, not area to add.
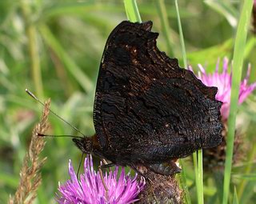
[[[160,34],[158,48],[178,58],[183,66],[174,2],[137,2],[142,21],[153,21],[153,30]],[[180,0],[178,4],[187,58],[194,70],[201,63],[211,72],[218,58],[232,58],[240,2]],[[94,134],[92,111],[102,51],[110,31],[123,20],[126,12],[122,1],[0,1],[0,203],[6,203],[18,186],[31,131],[42,113],[42,106],[25,89],[29,88],[42,101],[51,98],[54,112],[83,133]],[[169,26],[168,36],[163,23]],[[250,82],[256,81],[256,42],[252,30],[250,27],[243,74],[250,62]],[[232,182],[237,186],[242,180],[246,182],[240,193],[241,203],[256,200],[255,171],[249,178],[241,176],[248,164],[251,170],[256,167],[255,157],[254,162],[248,162],[256,142],[255,107],[253,94],[240,106],[238,114],[238,130],[245,135],[242,143],[246,148],[243,159],[234,166]],[[77,134],[53,115],[50,125],[49,134]],[[42,169],[36,203],[54,203],[58,182],[69,178],[68,159],[77,169],[81,157],[70,138],[46,141],[42,157],[48,159]],[[190,158],[185,165],[194,203],[194,167]],[[212,174],[205,174],[206,203],[218,203],[218,183],[214,180]]]

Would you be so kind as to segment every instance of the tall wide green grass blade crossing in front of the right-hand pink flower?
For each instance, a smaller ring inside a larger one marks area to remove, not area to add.
[[[224,172],[224,187],[223,187],[223,200],[222,204],[226,204],[229,199],[230,192],[230,176],[232,169],[233,160],[233,149],[234,149],[234,131],[236,122],[236,113],[238,110],[238,94],[240,81],[242,76],[242,62],[246,47],[247,28],[250,23],[250,14],[253,6],[253,1],[244,1],[242,6],[242,12],[238,22],[238,30],[234,42],[234,66],[233,66],[233,78],[231,87],[231,98],[230,98],[230,116],[228,120],[229,131],[227,134],[227,145],[226,145],[226,161],[225,161],[225,172]]]

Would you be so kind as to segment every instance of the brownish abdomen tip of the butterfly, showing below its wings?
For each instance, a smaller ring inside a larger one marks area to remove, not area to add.
[[[178,174],[182,170],[175,163],[176,161],[171,160],[170,162],[156,163],[147,165],[150,170],[153,170],[154,173],[170,176],[173,174]]]

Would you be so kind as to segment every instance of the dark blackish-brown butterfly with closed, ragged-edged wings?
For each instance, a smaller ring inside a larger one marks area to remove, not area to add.
[[[84,153],[158,174],[174,161],[222,142],[216,87],[207,87],[156,46],[152,22],[121,22],[102,55],[90,138],[74,138]]]

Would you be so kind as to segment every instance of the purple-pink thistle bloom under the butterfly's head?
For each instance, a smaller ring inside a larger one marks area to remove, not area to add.
[[[106,191],[100,173],[94,170],[91,156],[86,157],[84,170],[85,173],[81,174],[80,179],[78,180],[70,161],[70,180],[63,185],[59,184],[59,194],[57,196],[58,203],[132,203],[138,200],[138,194],[145,186],[144,180],[141,180],[140,182],[136,180],[137,174],[134,178],[130,178],[129,174],[125,174],[123,167],[118,178],[117,166],[114,171],[110,171],[110,173],[106,173],[103,176],[106,188],[108,189],[108,191]]]

